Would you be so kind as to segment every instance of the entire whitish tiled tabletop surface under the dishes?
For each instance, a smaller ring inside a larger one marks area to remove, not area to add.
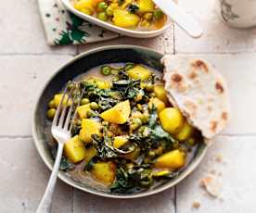
[[[158,38],[122,37],[105,43],[48,47],[36,0],[1,1],[0,27],[0,212],[31,213],[49,177],[31,136],[31,116],[37,94],[58,67],[77,52],[107,44],[137,44],[164,54],[195,54],[220,69],[232,102],[232,120],[210,147],[200,167],[185,182],[164,193],[136,200],[111,200],[73,190],[58,182],[54,213],[190,213],[254,211],[256,140],[256,31],[229,29],[214,13],[214,0],[180,0],[200,20],[205,33],[192,40],[178,29]],[[234,54],[235,53],[235,54]],[[224,163],[214,161],[216,155]],[[198,187],[211,169],[222,172],[222,199],[213,199]],[[200,207],[192,207],[193,202]]]

